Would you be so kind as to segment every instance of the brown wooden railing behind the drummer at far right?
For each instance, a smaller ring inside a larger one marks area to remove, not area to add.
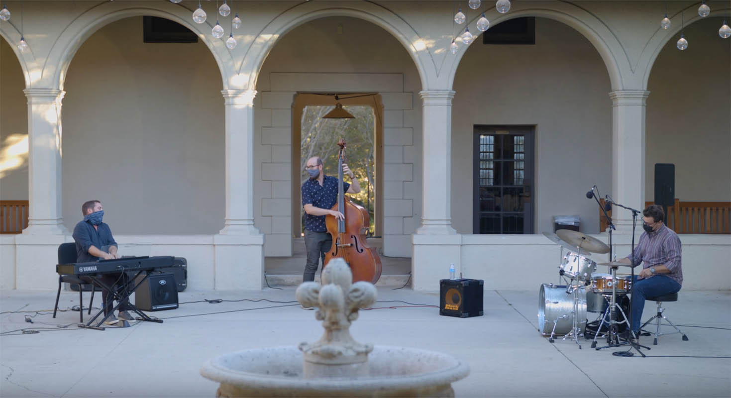
[[[599,199],[604,205],[604,199]],[[654,202],[645,202],[645,207]],[[612,212],[609,211],[609,216]],[[678,234],[731,234],[731,202],[681,202],[667,207],[665,224]],[[599,232],[607,229],[607,218],[599,210]]]

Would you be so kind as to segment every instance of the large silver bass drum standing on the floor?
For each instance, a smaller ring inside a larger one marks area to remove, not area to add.
[[[586,289],[577,292],[577,327],[583,334],[586,328]],[[538,330],[544,336],[553,331],[562,336],[571,332],[574,326],[574,291],[566,291],[566,285],[543,283],[538,291]],[[553,329],[554,324],[556,329]]]

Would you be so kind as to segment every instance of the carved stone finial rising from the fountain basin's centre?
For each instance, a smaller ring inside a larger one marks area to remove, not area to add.
[[[364,364],[373,344],[361,344],[350,336],[350,324],[358,318],[358,309],[376,302],[372,283],[352,283],[352,272],[344,259],[332,259],[322,270],[322,286],[305,282],[297,288],[297,300],[307,307],[318,307],[315,317],[322,321],[325,333],[317,342],[302,342],[305,372],[313,375],[338,374],[333,367],[319,365]],[[364,367],[364,370],[366,368]]]

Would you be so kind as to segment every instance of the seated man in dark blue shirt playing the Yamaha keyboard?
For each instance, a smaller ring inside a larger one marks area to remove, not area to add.
[[[99,259],[119,259],[117,253],[117,242],[112,236],[112,230],[107,223],[102,222],[104,208],[102,202],[90,200],[81,206],[81,214],[84,216],[74,227],[74,240],[76,241],[76,262],[97,261]],[[122,272],[115,272],[100,276],[100,280],[107,286],[113,286],[121,282]],[[113,294],[106,288],[102,288],[102,305],[104,315],[112,312],[114,308]],[[119,324],[119,320],[133,321],[135,318],[127,312],[126,305],[119,307],[118,316],[110,315],[104,323],[108,326]]]

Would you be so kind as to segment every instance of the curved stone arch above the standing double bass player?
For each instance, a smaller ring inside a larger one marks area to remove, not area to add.
[[[308,21],[333,16],[358,18],[385,29],[406,48],[416,65],[423,89],[436,82],[436,67],[433,66],[435,63],[431,53],[426,46],[417,48],[416,43],[422,38],[406,20],[390,9],[365,1],[353,2],[346,7],[332,7],[327,2],[310,1],[284,10],[257,34],[237,71],[242,76],[241,88],[254,89],[257,86],[264,61],[280,37]],[[430,62],[431,68],[428,67]]]

